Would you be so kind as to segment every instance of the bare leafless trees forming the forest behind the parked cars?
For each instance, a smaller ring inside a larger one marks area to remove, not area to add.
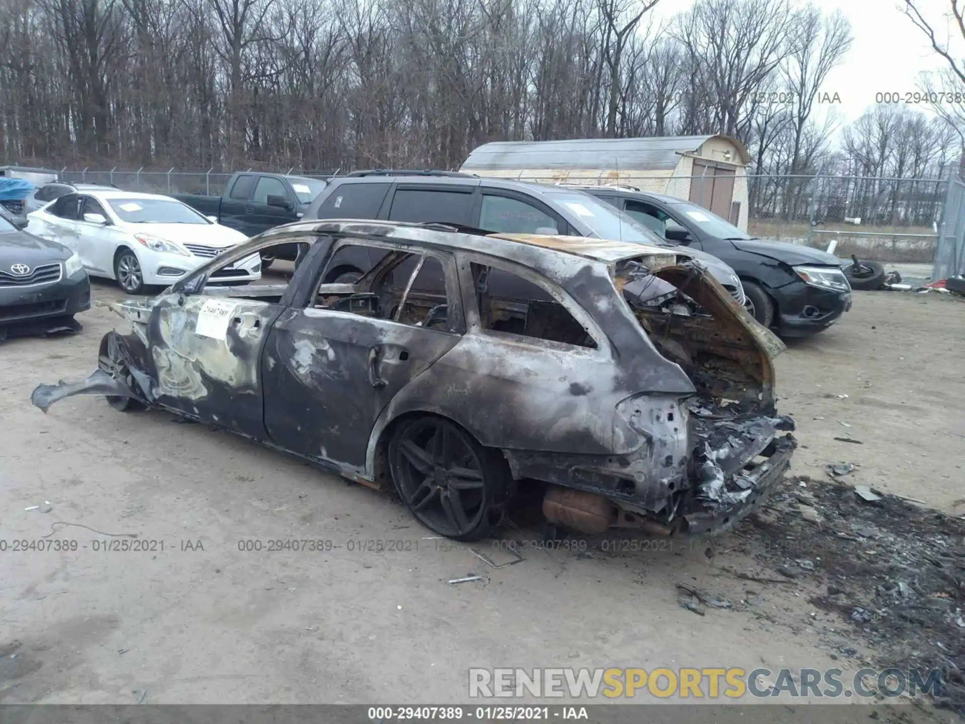
[[[840,14],[657,2],[4,0],[0,158],[455,168],[490,140],[705,132],[740,137],[752,174],[933,177],[957,158],[949,124],[889,105],[832,152],[817,110],[849,52]]]

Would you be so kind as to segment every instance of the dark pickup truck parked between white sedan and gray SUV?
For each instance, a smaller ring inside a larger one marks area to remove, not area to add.
[[[205,214],[212,221],[255,237],[274,226],[297,221],[325,188],[326,182],[286,174],[258,171],[237,173],[229,179],[222,196],[170,194],[174,199]],[[278,258],[295,259],[297,249],[282,248]],[[276,257],[262,256],[262,268]]]

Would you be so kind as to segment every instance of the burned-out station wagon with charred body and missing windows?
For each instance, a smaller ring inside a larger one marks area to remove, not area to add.
[[[287,285],[208,284],[292,243]],[[372,268],[323,284],[357,247]],[[678,250],[298,222],[109,306],[132,331],[105,335],[86,380],[38,387],[44,412],[75,394],[164,408],[391,481],[457,540],[498,525],[517,485],[544,487],[544,514],[567,529],[720,532],[759,506],[795,445],[775,409],[782,343]]]

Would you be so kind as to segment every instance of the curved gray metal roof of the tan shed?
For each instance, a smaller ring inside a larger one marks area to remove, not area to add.
[[[711,138],[732,143],[740,160],[750,155],[736,138],[722,134],[706,136],[659,136],[654,138],[576,138],[568,141],[494,141],[478,147],[462,164],[462,171],[509,171],[516,169],[587,169],[609,171],[673,170],[681,153],[695,153]]]

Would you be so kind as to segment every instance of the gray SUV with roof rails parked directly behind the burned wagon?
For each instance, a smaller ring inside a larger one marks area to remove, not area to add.
[[[455,172],[396,173],[358,171],[336,177],[305,218],[442,223],[494,234],[593,237],[676,248],[633,217],[578,189]],[[744,303],[744,289],[730,266],[700,250],[688,248],[687,254],[706,266],[738,304]],[[354,282],[378,261],[345,254],[324,281]]]

